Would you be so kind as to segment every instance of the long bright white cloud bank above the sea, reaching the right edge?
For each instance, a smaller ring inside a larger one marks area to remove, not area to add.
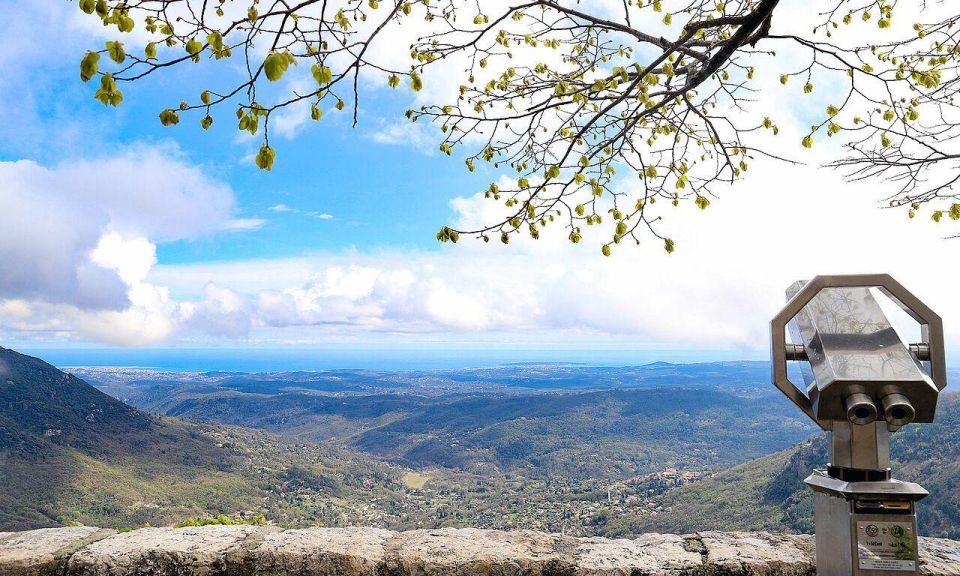
[[[761,353],[792,281],[889,272],[944,316],[951,345],[960,344],[952,294],[960,272],[931,265],[952,261],[957,249],[941,229],[878,210],[872,187],[845,184],[831,171],[775,163],[754,170],[706,211],[671,208],[672,255],[651,240],[603,258],[597,238],[574,246],[554,230],[509,246],[464,238],[440,252],[161,265],[150,279],[184,293],[204,280],[247,295],[252,342],[402,334]],[[482,197],[455,203],[464,220],[486,204]]]

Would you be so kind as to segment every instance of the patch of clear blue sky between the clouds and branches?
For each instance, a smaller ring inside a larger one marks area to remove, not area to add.
[[[63,21],[48,20],[51,28],[69,26],[76,17],[74,4],[58,4],[62,6],[57,5],[50,18]],[[331,109],[322,122],[306,127],[297,138],[276,138],[279,160],[272,172],[264,173],[246,158],[258,141],[238,139],[230,110],[221,112],[209,131],[200,128],[196,115],[184,115],[175,127],[157,121],[159,110],[180,98],[195,98],[193,92],[204,86],[201,71],[209,73],[216,67],[182,67],[125,85],[124,103],[105,108],[92,98],[94,82],[83,84],[77,77],[83,51],[99,48],[102,40],[79,31],[70,36],[55,57],[42,59],[42,70],[29,71],[28,90],[36,98],[33,134],[21,138],[22,126],[16,122],[5,127],[0,158],[54,164],[64,156],[95,156],[133,143],[174,142],[190,163],[230,184],[242,215],[269,218],[263,228],[249,234],[163,244],[158,247],[162,262],[281,257],[350,246],[433,250],[437,248],[433,235],[452,216],[450,198],[472,193],[491,178],[470,174],[460,161],[427,149],[375,142],[373,134],[388,121],[403,120],[410,103],[409,94],[385,90],[368,91],[356,129],[350,125],[349,111]],[[224,76],[229,81],[230,75]],[[277,204],[298,213],[270,212]],[[318,220],[306,215],[310,212],[334,218]]]

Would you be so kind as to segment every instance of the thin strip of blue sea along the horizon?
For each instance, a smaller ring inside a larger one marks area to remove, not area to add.
[[[534,349],[242,349],[242,348],[41,348],[20,349],[55,366],[117,366],[172,372],[290,372],[297,370],[439,370],[515,363],[637,366],[651,362],[765,360],[737,350],[534,350]]]

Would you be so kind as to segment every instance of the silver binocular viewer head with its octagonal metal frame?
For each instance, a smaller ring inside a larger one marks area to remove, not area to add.
[[[920,324],[920,342],[900,338],[873,288]],[[787,298],[770,324],[773,381],[818,426],[933,422],[947,382],[943,325],[926,304],[886,274],[817,276],[792,284]],[[805,390],[787,377],[789,360],[808,363]]]

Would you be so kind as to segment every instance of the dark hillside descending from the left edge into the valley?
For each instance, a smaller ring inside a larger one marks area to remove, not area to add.
[[[0,530],[244,511],[285,524],[383,524],[403,498],[402,474],[262,432],[150,416],[0,348]]]

